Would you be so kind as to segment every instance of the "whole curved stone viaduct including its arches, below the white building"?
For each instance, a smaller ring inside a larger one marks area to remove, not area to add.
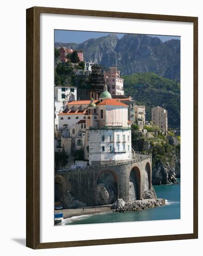
[[[56,173],[55,198],[60,198],[63,204],[63,197],[71,193],[87,206],[105,204],[98,197],[98,186],[102,184],[114,190],[113,201],[122,198],[129,202],[133,197],[137,200],[143,198],[144,191],[152,189],[152,156],[136,154],[135,159],[127,162],[108,162],[105,165]]]

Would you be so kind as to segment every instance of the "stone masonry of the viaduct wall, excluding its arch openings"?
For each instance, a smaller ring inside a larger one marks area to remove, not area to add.
[[[130,193],[130,172],[136,169],[140,172],[140,198],[143,197],[145,191],[145,172],[146,164],[152,166],[151,157],[149,155],[142,155],[142,159],[129,161],[120,165],[112,166],[95,166],[87,168],[85,170],[73,170],[56,174],[55,180],[58,180],[58,176],[63,177],[63,188],[64,193],[71,193],[76,200],[86,203],[89,206],[98,205],[97,202],[97,181],[101,173],[111,172],[114,175],[117,198],[122,198],[125,202],[129,201]],[[144,159],[145,158],[145,159]],[[151,169],[151,168],[150,168]],[[149,181],[151,181],[152,172],[149,173]],[[62,180],[62,178],[61,178]],[[65,181],[65,182],[64,182]],[[151,189],[151,183],[149,184]],[[68,192],[67,192],[68,190]],[[138,198],[138,199],[140,199]]]

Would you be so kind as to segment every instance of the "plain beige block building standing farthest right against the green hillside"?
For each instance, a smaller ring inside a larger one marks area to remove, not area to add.
[[[152,122],[155,126],[158,126],[163,133],[167,134],[168,116],[165,108],[159,106],[152,108]]]

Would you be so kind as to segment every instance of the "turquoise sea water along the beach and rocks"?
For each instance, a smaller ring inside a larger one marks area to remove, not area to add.
[[[139,212],[108,212],[89,216],[77,216],[64,220],[63,225],[179,219],[180,184],[160,185],[153,187],[158,198],[165,198],[167,200],[167,204],[165,206],[145,209]]]

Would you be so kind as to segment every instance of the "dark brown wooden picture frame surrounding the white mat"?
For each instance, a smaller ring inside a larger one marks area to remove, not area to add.
[[[193,160],[193,233],[165,235],[124,237],[114,239],[99,239],[85,241],[67,241],[56,243],[40,243],[40,119],[39,119],[39,15],[40,13],[87,15],[99,17],[114,17],[127,19],[182,21],[193,23],[194,40],[194,160]],[[102,244],[141,243],[152,241],[194,239],[198,237],[198,146],[197,146],[197,104],[198,104],[198,19],[197,17],[144,14],[144,13],[121,13],[93,10],[76,10],[51,7],[32,7],[26,10],[26,246],[32,249],[74,247]]]

